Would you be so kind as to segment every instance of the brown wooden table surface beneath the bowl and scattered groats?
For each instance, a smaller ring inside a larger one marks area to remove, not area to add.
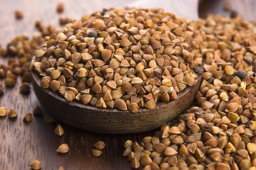
[[[174,1],[174,0],[172,0]],[[1,45],[5,46],[16,35],[26,33],[33,35],[34,22],[40,20],[42,23],[51,23],[53,26],[60,28],[58,25],[58,18],[60,16],[67,16],[71,18],[79,18],[84,13],[91,13],[92,11],[100,10],[101,6],[106,8],[111,7],[108,2],[94,0],[91,1],[63,1],[65,4],[65,12],[62,14],[56,13],[57,1],[15,1],[0,0],[0,41]],[[142,1],[145,3],[146,1]],[[186,2],[186,3],[185,3]],[[191,13],[195,18],[197,17],[197,1],[190,1],[192,4]],[[256,13],[256,1],[233,0],[232,8],[242,13],[247,20],[254,20]],[[104,4],[105,3],[105,4]],[[117,6],[123,6],[138,3],[138,1],[129,0],[126,4],[113,0],[111,3]],[[182,3],[187,4],[187,1]],[[224,1],[203,1],[199,8],[199,15],[205,16],[206,13],[225,13],[223,11]],[[95,5],[95,4],[101,4]],[[154,5],[154,4],[152,4]],[[161,5],[161,4],[160,4]],[[188,5],[188,4],[187,4]],[[172,5],[169,5],[172,6]],[[147,6],[148,7],[148,6]],[[169,8],[173,12],[177,8],[173,6]],[[183,8],[183,7],[182,7]],[[16,21],[14,11],[20,9],[24,12],[24,18]],[[165,11],[168,6],[165,6]],[[180,11],[177,8],[176,11]],[[187,11],[186,8],[183,10]],[[190,14],[191,14],[190,13]],[[227,13],[226,13],[227,14]],[[0,58],[0,64],[7,63],[7,60]],[[3,81],[3,79],[0,79]],[[33,117],[32,122],[24,123],[23,116],[33,111],[33,107],[40,106],[33,91],[28,95],[19,93],[18,87],[21,85],[21,79],[18,78],[18,84],[13,88],[4,87],[4,96],[0,96],[0,107],[6,106],[8,110],[14,108],[18,113],[16,120],[9,120],[8,118],[0,118],[0,169],[1,170],[16,170],[29,169],[30,162],[38,159],[41,162],[41,169],[58,169],[63,166],[65,169],[130,169],[129,162],[126,157],[123,157],[123,143],[126,140],[141,140],[145,135],[152,135],[154,131],[144,132],[132,135],[106,135],[95,132],[88,132],[72,128],[69,125],[64,125],[60,122],[45,123],[43,115]],[[31,86],[31,85],[30,85]],[[32,87],[32,86],[31,86]],[[62,137],[55,135],[55,127],[60,123],[65,130]],[[105,149],[100,157],[93,157],[91,149],[94,142],[102,140],[106,143]],[[55,152],[57,147],[62,143],[69,145],[69,153],[58,154]]]

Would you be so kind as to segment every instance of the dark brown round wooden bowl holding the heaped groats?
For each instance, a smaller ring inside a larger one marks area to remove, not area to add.
[[[109,134],[145,132],[160,127],[183,113],[193,102],[201,84],[185,88],[177,100],[157,103],[155,109],[140,108],[138,113],[110,108],[96,108],[77,101],[67,102],[60,94],[40,87],[40,76],[31,71],[33,89],[42,106],[57,120],[76,128]]]

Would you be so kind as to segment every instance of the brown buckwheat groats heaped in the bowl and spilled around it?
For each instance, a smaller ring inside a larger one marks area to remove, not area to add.
[[[162,9],[118,8],[62,31],[37,26],[37,37],[19,36],[0,50],[19,56],[0,66],[6,86],[20,74],[29,81],[35,52],[30,68],[43,88],[67,101],[136,112],[175,99],[202,74],[194,106],[154,136],[126,141],[123,156],[133,169],[256,169],[254,23],[239,15],[186,21]]]

